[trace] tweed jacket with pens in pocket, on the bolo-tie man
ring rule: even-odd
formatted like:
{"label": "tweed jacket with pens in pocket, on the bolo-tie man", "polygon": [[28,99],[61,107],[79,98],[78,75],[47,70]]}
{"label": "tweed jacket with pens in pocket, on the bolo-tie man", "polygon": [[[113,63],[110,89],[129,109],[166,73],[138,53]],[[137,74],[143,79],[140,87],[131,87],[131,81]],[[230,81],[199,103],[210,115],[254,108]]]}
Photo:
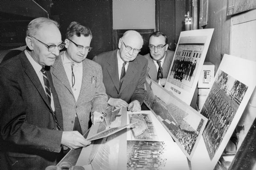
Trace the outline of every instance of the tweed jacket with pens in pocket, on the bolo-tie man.
{"label": "tweed jacket with pens in pocket, on the bolo-tie man", "polygon": [[[63,55],[63,52],[61,52],[61,55]],[[77,101],[68,81],[61,56],[58,56],[55,63],[51,66],[51,74],[61,103],[64,131],[73,130],[77,114],[82,133],[84,134],[89,128],[90,112],[95,110],[105,112],[107,95],[102,82],[101,66],[87,58],[82,61],[82,64],[82,84]]]}

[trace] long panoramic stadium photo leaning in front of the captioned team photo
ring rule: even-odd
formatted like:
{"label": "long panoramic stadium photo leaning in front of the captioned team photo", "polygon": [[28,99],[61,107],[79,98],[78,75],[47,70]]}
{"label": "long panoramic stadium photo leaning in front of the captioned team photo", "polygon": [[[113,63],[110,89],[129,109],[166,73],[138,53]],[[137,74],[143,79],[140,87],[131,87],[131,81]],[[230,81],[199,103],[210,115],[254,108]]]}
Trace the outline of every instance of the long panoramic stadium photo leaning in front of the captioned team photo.
{"label": "long panoramic stadium photo leaning in front of the captioned team photo", "polygon": [[144,103],[191,160],[207,118],[148,77]]}

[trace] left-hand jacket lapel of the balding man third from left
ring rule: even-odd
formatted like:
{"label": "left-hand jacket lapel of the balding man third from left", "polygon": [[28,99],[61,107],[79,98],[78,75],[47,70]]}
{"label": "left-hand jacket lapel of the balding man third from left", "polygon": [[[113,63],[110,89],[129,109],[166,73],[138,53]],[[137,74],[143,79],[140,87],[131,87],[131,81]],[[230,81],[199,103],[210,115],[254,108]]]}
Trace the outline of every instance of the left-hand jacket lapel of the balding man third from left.
{"label": "left-hand jacket lapel of the balding man third from left", "polygon": [[113,84],[116,87],[117,92],[119,92],[119,76],[118,76],[118,64],[117,64],[117,50],[112,53],[112,56],[108,59],[107,63],[109,64],[107,70],[108,74],[113,81]]}

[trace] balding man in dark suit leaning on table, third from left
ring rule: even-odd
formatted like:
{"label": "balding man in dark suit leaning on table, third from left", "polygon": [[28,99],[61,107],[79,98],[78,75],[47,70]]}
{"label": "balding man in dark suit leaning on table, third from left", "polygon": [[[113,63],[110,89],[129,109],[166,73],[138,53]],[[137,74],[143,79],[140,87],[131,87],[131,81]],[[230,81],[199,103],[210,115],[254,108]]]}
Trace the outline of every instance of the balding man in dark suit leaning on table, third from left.
{"label": "balding man in dark suit leaning on table, third from left", "polygon": [[119,39],[118,48],[93,58],[102,66],[108,104],[140,111],[144,98],[147,60],[138,55],[143,45],[141,35],[133,30]]}

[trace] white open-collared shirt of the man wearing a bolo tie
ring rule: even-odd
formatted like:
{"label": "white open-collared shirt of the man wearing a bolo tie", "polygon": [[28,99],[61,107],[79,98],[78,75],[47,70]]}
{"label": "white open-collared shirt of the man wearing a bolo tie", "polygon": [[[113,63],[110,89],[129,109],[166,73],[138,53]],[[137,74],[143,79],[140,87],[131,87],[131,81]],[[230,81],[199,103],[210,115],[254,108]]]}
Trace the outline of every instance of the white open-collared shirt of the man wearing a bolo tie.
{"label": "white open-collared shirt of the man wearing a bolo tie", "polygon": [[[64,52],[61,55],[61,61],[63,63],[68,81],[70,82],[70,87],[72,89],[73,95],[75,97],[75,100],[77,101],[79,94],[80,94],[80,90],[81,90],[81,85],[82,85],[82,78],[83,78],[83,62],[81,63],[74,63],[73,66],[73,73],[75,76],[75,84],[72,87],[72,69],[71,69],[71,63],[72,61],[70,61],[67,56],[66,56],[66,52]],[[74,81],[74,80],[73,80]]]}

